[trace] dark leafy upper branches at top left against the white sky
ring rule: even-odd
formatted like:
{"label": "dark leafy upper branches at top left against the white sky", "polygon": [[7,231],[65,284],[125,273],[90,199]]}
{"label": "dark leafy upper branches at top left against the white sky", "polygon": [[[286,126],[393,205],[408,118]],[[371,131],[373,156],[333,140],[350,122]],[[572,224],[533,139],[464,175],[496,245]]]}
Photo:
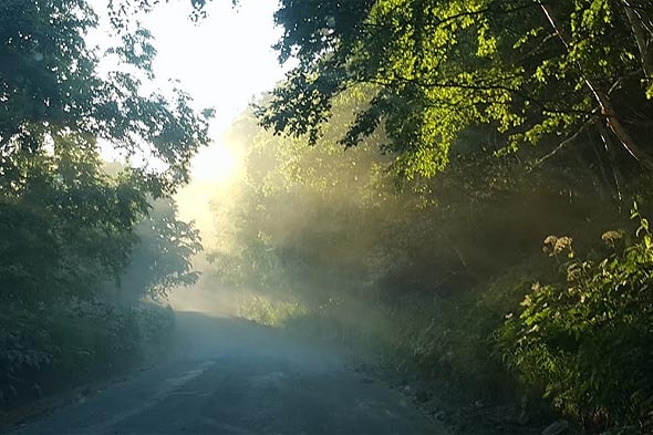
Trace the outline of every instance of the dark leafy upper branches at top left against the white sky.
{"label": "dark leafy upper branches at top left against the white sky", "polygon": [[[113,3],[112,3],[113,4]],[[168,101],[144,96],[154,77],[156,50],[151,33],[136,23],[112,20],[117,43],[108,55],[120,66],[101,74],[100,54],[85,42],[97,17],[85,0],[8,0],[0,7],[0,174],[19,151],[46,151],[66,135],[80,148],[100,143],[158,160],[160,169],[139,169],[155,195],[188,180],[197,148],[209,142],[213,111],[197,113],[179,90]]]}

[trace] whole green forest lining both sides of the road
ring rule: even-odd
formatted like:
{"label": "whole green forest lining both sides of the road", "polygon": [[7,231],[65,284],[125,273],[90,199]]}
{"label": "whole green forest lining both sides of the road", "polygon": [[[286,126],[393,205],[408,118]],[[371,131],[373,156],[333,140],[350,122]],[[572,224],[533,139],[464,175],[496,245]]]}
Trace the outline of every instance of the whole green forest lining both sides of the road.
{"label": "whole green forest lining both sides of the road", "polygon": [[237,315],[517,426],[653,431],[651,1],[281,0],[204,240],[215,113],[146,91],[155,8],[99,53],[85,0],[0,4],[0,407],[164,353],[201,255]]}

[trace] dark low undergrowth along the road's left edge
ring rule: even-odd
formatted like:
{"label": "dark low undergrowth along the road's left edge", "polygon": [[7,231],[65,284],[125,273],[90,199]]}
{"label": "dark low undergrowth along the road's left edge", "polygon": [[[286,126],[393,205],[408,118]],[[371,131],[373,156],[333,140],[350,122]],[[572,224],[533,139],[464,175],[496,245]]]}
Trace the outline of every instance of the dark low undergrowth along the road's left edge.
{"label": "dark low undergrowth along the road's left edge", "polygon": [[0,310],[0,406],[126,367],[165,350],[174,322],[154,304],[93,300]]}

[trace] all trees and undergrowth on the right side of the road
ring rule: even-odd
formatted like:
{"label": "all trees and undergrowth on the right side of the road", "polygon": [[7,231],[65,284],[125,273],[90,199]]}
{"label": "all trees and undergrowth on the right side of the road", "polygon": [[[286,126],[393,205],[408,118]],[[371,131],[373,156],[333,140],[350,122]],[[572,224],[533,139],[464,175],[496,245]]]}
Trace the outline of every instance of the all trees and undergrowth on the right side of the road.
{"label": "all trees and undergrowth on the right side of the road", "polygon": [[245,314],[515,404],[516,425],[653,429],[651,6],[276,19],[297,66],[232,126],[245,176],[210,253],[255,289]]}

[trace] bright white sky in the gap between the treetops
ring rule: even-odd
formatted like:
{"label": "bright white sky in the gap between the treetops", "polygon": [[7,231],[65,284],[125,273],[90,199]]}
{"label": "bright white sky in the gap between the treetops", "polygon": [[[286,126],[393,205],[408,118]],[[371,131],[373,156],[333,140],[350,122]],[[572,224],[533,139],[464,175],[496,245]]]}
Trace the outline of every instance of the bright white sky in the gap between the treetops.
{"label": "bright white sky in the gap between the treetops", "polygon": [[[106,1],[92,3],[102,18]],[[169,87],[169,79],[178,80],[196,108],[216,108],[210,132],[216,145],[194,159],[196,180],[232,175],[234,156],[220,144],[222,133],[252,97],[283,77],[271,49],[280,37],[272,19],[277,7],[276,0],[239,0],[237,7],[231,0],[213,0],[206,6],[208,17],[194,23],[190,0],[173,0],[138,18],[155,38],[158,85]],[[102,38],[93,35],[92,41],[102,44]]]}

